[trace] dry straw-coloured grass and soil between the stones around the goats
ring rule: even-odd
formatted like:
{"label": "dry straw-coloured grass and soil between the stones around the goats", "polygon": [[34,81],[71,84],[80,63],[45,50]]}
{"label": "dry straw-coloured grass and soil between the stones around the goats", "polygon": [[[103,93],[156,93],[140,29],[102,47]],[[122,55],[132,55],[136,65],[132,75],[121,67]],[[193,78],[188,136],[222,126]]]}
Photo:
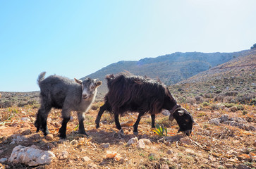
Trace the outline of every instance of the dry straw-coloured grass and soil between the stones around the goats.
{"label": "dry straw-coloured grass and soil between the stones around the goats", "polygon": [[[96,105],[98,105],[97,103]],[[85,138],[85,141],[78,142],[78,144],[71,144],[73,139],[78,140],[83,137],[75,134],[74,129],[78,124],[78,120],[74,114],[73,122],[68,123],[67,139],[62,142],[57,137],[59,127],[55,123],[61,122],[61,115],[59,110],[52,110],[49,114],[51,120],[48,121],[49,131],[54,134],[53,141],[44,139],[42,132],[40,132],[41,139],[39,142],[20,143],[25,146],[36,144],[41,149],[51,150],[56,154],[56,161],[49,165],[43,165],[39,168],[92,168],[92,164],[97,168],[161,168],[163,165],[168,165],[169,168],[226,168],[226,165],[247,165],[250,168],[255,167],[255,161],[240,160],[238,158],[242,154],[249,154],[250,152],[256,154],[255,142],[256,132],[242,130],[238,127],[230,125],[211,125],[208,123],[209,119],[218,118],[223,114],[228,114],[231,117],[240,117],[245,119],[255,119],[255,106],[243,105],[248,111],[243,114],[243,111],[226,112],[223,110],[215,110],[211,106],[205,107],[204,111],[195,111],[199,106],[192,106],[190,104],[183,104],[193,113],[193,117],[198,125],[195,125],[193,134],[190,137],[185,137],[183,134],[177,134],[178,126],[173,124],[167,125],[168,120],[166,116],[157,115],[157,122],[164,124],[167,127],[167,137],[159,137],[150,129],[150,116],[142,118],[139,125],[138,139],[147,138],[152,141],[151,145],[147,145],[145,149],[138,149],[136,145],[126,146],[126,142],[133,135],[133,127],[123,127],[126,136],[122,139],[113,137],[114,131],[117,132],[114,122],[109,113],[105,113],[102,117],[103,123],[101,127],[95,129],[95,118],[97,110],[91,110],[85,115],[85,127],[90,134],[90,137]],[[11,155],[11,149],[15,144],[10,144],[11,140],[6,139],[13,134],[20,134],[26,129],[30,129],[32,134],[35,134],[35,114],[37,108],[27,106],[25,108],[1,108],[1,125],[0,125],[0,158]],[[22,117],[30,118],[30,122],[23,122]],[[121,117],[121,122],[125,123],[137,118],[136,113],[130,113]],[[104,122],[106,121],[106,123]],[[248,124],[255,126],[255,123],[247,121]],[[27,137],[30,138],[32,134]],[[49,149],[49,143],[56,146]],[[109,143],[108,149],[99,148],[102,143]],[[7,150],[8,151],[2,151]],[[60,160],[58,158],[62,151],[68,151],[68,158]],[[125,161],[114,161],[113,159],[105,159],[106,150],[116,151],[125,159]],[[171,150],[172,154],[167,154]],[[236,154],[230,152],[236,151]],[[83,161],[83,157],[87,156],[91,161]],[[168,161],[166,161],[168,159]],[[4,163],[6,168],[26,168],[23,164]]]}

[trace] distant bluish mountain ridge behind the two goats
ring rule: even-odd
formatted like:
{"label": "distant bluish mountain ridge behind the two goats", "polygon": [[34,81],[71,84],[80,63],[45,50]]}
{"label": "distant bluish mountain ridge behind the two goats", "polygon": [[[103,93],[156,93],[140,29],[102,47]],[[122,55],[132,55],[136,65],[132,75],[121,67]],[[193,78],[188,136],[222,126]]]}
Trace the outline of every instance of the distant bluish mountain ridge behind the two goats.
{"label": "distant bluish mountain ridge behind the two goats", "polygon": [[[99,93],[105,94],[107,91],[105,76],[128,71],[134,75],[142,75],[153,79],[160,79],[164,84],[170,85],[186,80],[193,75],[197,75],[205,70],[209,70],[217,65],[231,61],[248,54],[250,50],[232,53],[202,53],[202,52],[176,52],[157,58],[142,58],[140,61],[119,61],[112,63],[86,77],[98,78],[102,80],[102,87]],[[82,77],[83,80],[85,77]]]}

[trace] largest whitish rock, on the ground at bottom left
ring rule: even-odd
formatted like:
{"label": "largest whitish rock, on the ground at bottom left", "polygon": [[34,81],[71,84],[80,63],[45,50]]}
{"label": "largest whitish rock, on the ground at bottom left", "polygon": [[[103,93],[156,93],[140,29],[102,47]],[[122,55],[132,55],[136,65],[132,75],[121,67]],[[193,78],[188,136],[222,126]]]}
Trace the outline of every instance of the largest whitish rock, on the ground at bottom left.
{"label": "largest whitish rock, on the ground at bottom left", "polygon": [[8,161],[11,163],[24,163],[29,166],[49,164],[54,160],[55,155],[51,151],[35,149],[31,146],[16,146]]}

